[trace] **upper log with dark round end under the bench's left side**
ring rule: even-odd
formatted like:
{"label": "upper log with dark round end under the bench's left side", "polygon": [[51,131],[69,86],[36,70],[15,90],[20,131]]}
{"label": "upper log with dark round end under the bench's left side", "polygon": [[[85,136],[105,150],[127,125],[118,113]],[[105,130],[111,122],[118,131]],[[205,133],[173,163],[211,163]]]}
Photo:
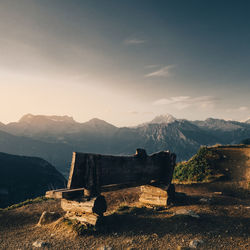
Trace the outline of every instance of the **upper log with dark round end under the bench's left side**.
{"label": "upper log with dark round end under the bench's left side", "polygon": [[92,198],[91,200],[87,200],[86,198],[81,200],[62,199],[61,207],[68,212],[96,213],[100,216],[107,210],[106,200],[102,195]]}

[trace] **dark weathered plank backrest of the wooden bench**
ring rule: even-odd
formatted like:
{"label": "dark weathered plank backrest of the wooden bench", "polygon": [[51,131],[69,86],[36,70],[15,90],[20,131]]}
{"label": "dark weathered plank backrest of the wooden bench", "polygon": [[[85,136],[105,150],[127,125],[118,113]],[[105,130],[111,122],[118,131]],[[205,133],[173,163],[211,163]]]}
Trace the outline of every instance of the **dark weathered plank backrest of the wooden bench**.
{"label": "dark weathered plank backrest of the wooden bench", "polygon": [[[97,196],[101,191],[112,190],[130,183],[129,187],[145,185],[151,180],[169,185],[172,180],[176,155],[161,151],[147,155],[144,149],[137,149],[132,156],[112,156],[88,153],[73,153],[68,188],[84,187],[90,196]],[[132,184],[134,183],[134,185]],[[103,187],[106,186],[106,187]]]}

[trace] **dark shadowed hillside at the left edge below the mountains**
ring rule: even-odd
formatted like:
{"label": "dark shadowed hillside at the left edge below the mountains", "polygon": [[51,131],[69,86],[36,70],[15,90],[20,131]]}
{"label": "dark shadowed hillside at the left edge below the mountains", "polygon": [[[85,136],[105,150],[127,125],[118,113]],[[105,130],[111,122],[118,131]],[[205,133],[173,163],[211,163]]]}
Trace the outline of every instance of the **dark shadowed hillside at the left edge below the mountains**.
{"label": "dark shadowed hillside at the left edge below the mountains", "polygon": [[62,174],[41,158],[0,153],[0,207],[44,195],[65,183]]}

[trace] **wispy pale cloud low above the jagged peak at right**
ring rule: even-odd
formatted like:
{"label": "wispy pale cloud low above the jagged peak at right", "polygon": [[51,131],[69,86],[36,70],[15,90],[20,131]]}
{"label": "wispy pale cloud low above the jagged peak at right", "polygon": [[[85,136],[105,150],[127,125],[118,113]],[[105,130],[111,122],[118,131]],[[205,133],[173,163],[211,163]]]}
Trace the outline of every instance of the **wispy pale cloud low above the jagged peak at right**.
{"label": "wispy pale cloud low above the jagged peak at right", "polygon": [[218,99],[213,96],[175,96],[170,98],[162,98],[155,100],[153,105],[172,105],[177,109],[185,109],[190,106],[198,106],[201,108],[212,107]]}

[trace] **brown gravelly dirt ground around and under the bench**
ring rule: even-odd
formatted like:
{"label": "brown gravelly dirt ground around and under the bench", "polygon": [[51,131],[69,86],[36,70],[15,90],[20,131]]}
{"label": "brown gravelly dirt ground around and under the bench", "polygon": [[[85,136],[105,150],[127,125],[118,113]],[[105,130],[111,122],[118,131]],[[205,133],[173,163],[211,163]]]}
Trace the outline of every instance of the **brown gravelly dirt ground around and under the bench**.
{"label": "brown gravelly dirt ground around and under the bench", "polygon": [[[43,211],[63,215],[56,200],[1,211],[0,249],[36,249],[32,246],[36,240],[44,240],[45,249],[187,249],[194,239],[203,241],[198,249],[250,249],[250,198],[206,192],[205,188],[194,193],[177,186],[177,191],[183,190],[185,194],[177,193],[177,204],[168,209],[141,208],[115,216],[111,214],[120,205],[139,205],[138,188],[106,193],[110,224],[81,236],[60,219],[36,226]],[[182,208],[200,217],[176,215]]]}

